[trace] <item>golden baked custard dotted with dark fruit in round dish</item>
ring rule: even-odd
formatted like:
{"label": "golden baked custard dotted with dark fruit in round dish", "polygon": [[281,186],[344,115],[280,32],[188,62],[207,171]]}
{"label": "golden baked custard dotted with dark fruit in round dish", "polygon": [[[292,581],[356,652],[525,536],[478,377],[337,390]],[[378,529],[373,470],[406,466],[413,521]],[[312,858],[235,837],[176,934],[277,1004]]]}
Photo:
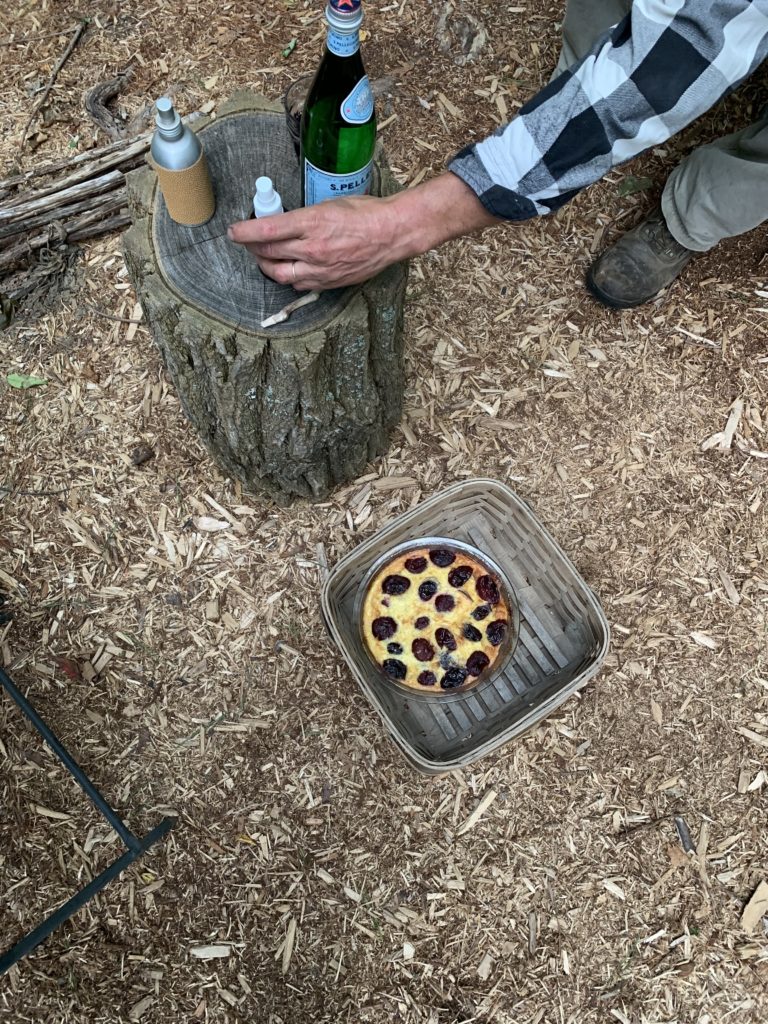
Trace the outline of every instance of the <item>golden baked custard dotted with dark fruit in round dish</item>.
{"label": "golden baked custard dotted with dark fruit in round dish", "polygon": [[470,686],[499,654],[510,608],[498,578],[450,547],[413,548],[371,581],[362,635],[384,672],[418,690]]}

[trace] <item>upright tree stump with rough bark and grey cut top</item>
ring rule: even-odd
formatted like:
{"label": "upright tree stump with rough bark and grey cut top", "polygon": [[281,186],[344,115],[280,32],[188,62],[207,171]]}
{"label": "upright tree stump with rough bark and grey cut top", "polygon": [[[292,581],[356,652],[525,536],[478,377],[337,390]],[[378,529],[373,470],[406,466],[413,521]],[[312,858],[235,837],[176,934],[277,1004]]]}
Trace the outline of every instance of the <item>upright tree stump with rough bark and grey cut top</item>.
{"label": "upright tree stump with rough bark and grey cut top", "polygon": [[[323,498],[386,450],[399,420],[407,266],[324,292],[262,330],[261,321],[297,293],[266,279],[226,228],[252,212],[260,174],[273,179],[287,210],[299,206],[285,113],[239,93],[196,130],[216,213],[201,227],[174,223],[154,171],[133,171],[128,271],[184,413],[214,460],[279,501]],[[395,190],[378,157],[376,178],[379,195]]]}

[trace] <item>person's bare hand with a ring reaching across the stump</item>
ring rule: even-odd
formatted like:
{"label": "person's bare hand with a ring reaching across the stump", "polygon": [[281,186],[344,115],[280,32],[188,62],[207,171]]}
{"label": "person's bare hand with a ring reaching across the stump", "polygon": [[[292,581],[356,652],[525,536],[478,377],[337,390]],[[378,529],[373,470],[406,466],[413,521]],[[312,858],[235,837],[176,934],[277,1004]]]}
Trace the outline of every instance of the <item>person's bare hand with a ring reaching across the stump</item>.
{"label": "person's bare hand with a ring reaching across the stump", "polygon": [[498,223],[459,177],[441,174],[383,199],[351,196],[229,227],[263,272],[299,292],[368,281],[398,260]]}

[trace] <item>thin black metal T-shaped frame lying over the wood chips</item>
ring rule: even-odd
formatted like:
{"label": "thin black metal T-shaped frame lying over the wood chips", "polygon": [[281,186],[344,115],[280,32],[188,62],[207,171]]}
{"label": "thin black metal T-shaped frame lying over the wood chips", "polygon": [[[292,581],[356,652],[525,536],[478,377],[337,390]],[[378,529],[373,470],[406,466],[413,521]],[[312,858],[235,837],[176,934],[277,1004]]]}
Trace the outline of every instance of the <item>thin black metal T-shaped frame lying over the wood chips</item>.
{"label": "thin black metal T-shaped frame lying over the wood chips", "polygon": [[23,956],[26,956],[29,952],[31,952],[31,950],[33,950],[38,943],[42,942],[43,939],[46,939],[51,932],[58,928],[59,925],[63,924],[68,918],[71,918],[74,913],[77,913],[78,910],[82,909],[90,899],[92,899],[104,888],[104,886],[112,882],[113,879],[116,879],[122,871],[125,870],[126,867],[132,864],[134,860],[137,860],[142,853],[153,846],[153,844],[162,839],[163,836],[165,836],[166,833],[168,833],[176,823],[176,819],[169,817],[163,818],[160,824],[153,828],[153,830],[143,839],[139,839],[138,836],[134,836],[130,828],[128,828],[127,825],[121,820],[115,810],[106,803],[104,798],[101,796],[93,782],[91,782],[77,761],[75,761],[72,755],[66,750],[54,733],[51,732],[45,722],[43,722],[30,701],[19,691],[15,683],[13,683],[13,681],[3,672],[2,669],[0,669],[0,686],[7,691],[10,698],[32,722],[37,731],[50,746],[59,761],[65,765],[73,778],[98,808],[104,818],[106,818],[118,836],[120,836],[125,846],[128,847],[127,851],[121,857],[118,857],[116,861],[110,864],[109,867],[104,868],[100,874],[97,874],[96,878],[89,882],[87,886],[75,893],[75,895],[67,900],[66,903],[62,903],[57,910],[54,910],[53,913],[42,922],[42,924],[38,925],[36,929],[20,939],[12,948],[0,955],[0,974],[3,974],[3,972],[7,971],[9,967],[12,967],[13,964],[16,964]]}

